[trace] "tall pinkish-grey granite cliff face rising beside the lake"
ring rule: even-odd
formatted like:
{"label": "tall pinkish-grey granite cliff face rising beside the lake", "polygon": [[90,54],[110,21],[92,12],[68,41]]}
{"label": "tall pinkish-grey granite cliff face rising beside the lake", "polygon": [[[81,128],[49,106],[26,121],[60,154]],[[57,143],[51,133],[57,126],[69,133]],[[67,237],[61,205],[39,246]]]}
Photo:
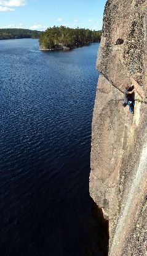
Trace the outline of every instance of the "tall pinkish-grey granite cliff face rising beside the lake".
{"label": "tall pinkish-grey granite cliff face rising beside the lake", "polygon": [[[98,52],[90,195],[109,221],[109,255],[147,255],[147,1],[108,0]],[[135,114],[122,106],[135,86]]]}

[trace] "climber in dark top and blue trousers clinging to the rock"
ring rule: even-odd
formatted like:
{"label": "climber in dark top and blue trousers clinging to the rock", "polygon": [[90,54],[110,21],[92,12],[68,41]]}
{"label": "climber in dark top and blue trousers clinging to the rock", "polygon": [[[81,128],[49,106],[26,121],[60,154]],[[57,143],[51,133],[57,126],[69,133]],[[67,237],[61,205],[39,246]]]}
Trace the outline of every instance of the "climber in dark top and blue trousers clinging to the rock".
{"label": "climber in dark top and blue trousers clinging to the rock", "polygon": [[124,100],[122,105],[125,107],[129,105],[130,113],[134,114],[134,105],[135,105],[135,88],[133,85],[130,87],[127,85],[124,91]]}

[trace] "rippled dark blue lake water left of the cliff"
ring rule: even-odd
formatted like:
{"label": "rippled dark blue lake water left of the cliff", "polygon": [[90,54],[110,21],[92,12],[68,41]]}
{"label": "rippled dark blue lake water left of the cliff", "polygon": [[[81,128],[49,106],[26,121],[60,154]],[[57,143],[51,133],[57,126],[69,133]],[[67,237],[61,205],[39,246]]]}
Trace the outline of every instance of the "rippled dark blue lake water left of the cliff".
{"label": "rippled dark blue lake water left of the cliff", "polygon": [[85,256],[98,46],[0,41],[1,255]]}

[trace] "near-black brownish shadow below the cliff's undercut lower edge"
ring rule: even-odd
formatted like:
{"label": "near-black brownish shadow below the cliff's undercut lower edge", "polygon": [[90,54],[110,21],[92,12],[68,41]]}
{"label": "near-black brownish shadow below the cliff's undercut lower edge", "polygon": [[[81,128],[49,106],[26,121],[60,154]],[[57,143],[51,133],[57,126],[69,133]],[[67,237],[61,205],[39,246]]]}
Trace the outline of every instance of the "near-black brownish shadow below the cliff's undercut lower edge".
{"label": "near-black brownish shadow below the cliff's undercut lower edge", "polygon": [[92,210],[88,223],[87,254],[85,256],[108,256],[109,221],[103,216],[103,211],[92,200]]}

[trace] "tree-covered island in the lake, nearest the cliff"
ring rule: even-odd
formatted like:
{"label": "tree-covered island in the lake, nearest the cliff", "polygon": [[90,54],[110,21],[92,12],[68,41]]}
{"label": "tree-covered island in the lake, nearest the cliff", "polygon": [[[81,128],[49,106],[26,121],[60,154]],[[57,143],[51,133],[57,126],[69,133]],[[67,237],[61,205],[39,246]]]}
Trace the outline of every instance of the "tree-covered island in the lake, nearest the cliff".
{"label": "tree-covered island in the lake, nearest the cliff", "polygon": [[39,36],[41,50],[73,49],[89,43],[99,42],[101,30],[85,28],[50,27]]}

